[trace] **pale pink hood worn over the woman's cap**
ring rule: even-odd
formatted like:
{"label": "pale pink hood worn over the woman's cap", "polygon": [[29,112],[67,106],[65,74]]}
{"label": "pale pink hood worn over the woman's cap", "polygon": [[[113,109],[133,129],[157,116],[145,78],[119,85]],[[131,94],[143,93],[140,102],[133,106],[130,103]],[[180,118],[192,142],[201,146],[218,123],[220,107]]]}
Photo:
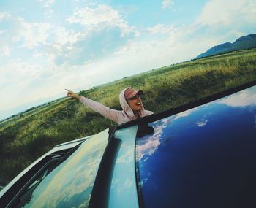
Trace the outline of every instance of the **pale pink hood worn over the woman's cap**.
{"label": "pale pink hood worn over the woman's cap", "polygon": [[[122,90],[121,93],[119,94],[119,102],[120,102],[120,105],[121,105],[121,107],[123,109],[123,112],[127,115],[127,117],[130,120],[134,120],[137,117],[134,115],[131,107],[129,107],[129,104],[127,103],[126,99],[124,98],[125,90],[127,90],[127,88]],[[140,117],[144,117],[144,116],[147,115],[146,112],[145,112],[145,109],[143,107],[142,101],[141,101],[141,110],[139,111],[139,115],[140,115]]]}

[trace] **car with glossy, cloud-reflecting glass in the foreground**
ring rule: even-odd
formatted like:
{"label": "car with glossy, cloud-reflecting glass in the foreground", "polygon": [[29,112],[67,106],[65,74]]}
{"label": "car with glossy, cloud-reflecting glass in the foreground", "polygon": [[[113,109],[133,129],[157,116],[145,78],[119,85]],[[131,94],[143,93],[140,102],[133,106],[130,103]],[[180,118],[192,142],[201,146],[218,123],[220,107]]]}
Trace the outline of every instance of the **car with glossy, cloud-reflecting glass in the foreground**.
{"label": "car with glossy, cloud-reflecting glass in the foreground", "polygon": [[256,82],[53,147],[0,207],[256,207]]}

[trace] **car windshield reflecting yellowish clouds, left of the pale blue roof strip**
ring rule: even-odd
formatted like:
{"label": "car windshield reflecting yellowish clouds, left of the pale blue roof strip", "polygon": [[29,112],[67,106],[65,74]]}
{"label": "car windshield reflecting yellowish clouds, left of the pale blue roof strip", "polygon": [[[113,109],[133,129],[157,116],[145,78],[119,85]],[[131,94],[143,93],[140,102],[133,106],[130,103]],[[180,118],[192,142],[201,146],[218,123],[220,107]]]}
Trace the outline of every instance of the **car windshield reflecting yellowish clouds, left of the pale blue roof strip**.
{"label": "car windshield reflecting yellowish clouds, left of the pale blue roof strip", "polygon": [[14,207],[88,207],[107,143],[108,129],[83,142],[59,166],[49,163]]}

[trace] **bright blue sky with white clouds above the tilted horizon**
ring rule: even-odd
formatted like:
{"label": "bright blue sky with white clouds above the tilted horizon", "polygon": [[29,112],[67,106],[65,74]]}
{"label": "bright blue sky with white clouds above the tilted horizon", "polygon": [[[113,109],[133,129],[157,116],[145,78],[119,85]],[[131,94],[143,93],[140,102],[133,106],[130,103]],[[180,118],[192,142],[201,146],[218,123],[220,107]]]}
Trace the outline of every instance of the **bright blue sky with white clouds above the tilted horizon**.
{"label": "bright blue sky with white clouds above the tilted horizon", "polygon": [[0,120],[256,34],[255,0],[1,0]]}

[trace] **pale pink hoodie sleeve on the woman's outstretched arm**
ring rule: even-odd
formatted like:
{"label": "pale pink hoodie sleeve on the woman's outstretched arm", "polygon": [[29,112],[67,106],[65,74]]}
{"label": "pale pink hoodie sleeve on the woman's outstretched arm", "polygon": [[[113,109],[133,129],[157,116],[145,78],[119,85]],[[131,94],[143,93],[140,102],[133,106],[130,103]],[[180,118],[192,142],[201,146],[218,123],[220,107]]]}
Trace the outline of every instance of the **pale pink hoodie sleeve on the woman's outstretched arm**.
{"label": "pale pink hoodie sleeve on the woman's outstretched arm", "polygon": [[103,115],[104,117],[109,118],[110,120],[113,120],[114,122],[118,123],[118,115],[121,114],[120,111],[116,109],[110,109],[109,107],[105,107],[105,105],[100,104],[97,101],[87,99],[84,96],[82,96],[79,99],[79,101],[93,109],[95,112],[98,112],[100,115]]}

